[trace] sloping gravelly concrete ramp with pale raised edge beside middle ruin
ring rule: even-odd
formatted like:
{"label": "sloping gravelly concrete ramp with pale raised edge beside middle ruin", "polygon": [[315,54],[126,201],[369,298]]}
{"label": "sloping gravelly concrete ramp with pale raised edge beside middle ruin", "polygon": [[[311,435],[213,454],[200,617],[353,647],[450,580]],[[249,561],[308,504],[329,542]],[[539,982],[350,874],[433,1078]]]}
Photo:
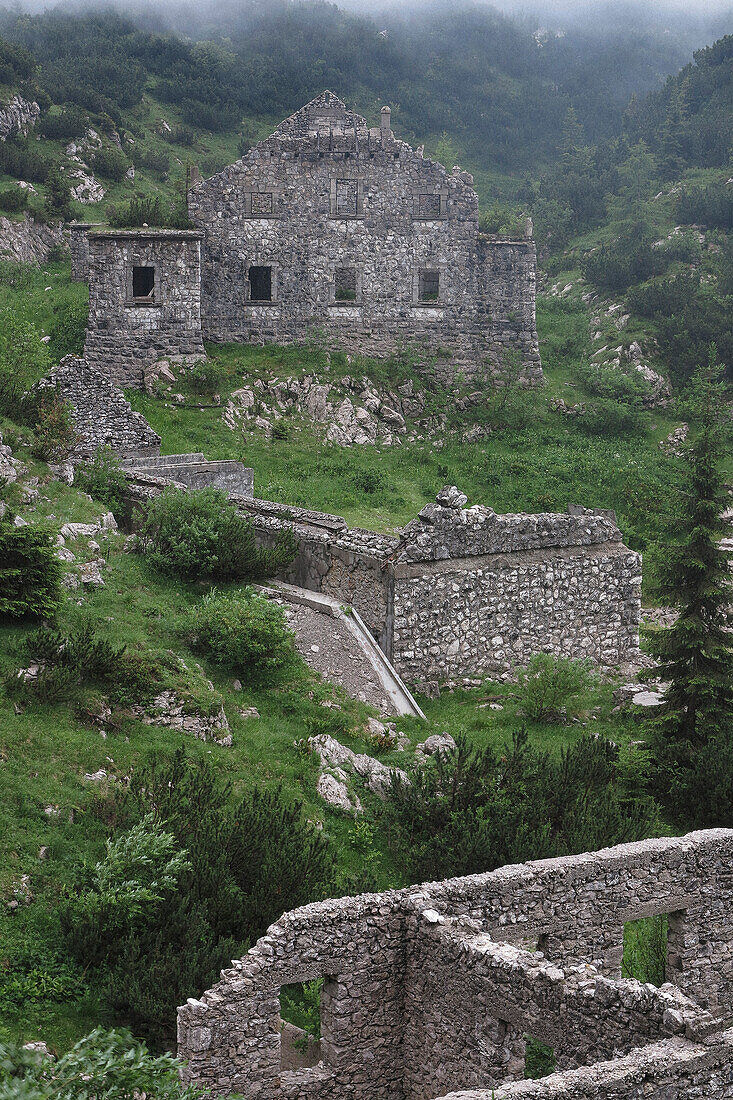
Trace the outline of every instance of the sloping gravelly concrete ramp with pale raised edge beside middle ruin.
{"label": "sloping gravelly concrete ramp with pale raised edge beside middle ruin", "polygon": [[298,651],[326,680],[376,706],[384,716],[425,717],[353,607],[284,582],[259,591],[288,607]]}

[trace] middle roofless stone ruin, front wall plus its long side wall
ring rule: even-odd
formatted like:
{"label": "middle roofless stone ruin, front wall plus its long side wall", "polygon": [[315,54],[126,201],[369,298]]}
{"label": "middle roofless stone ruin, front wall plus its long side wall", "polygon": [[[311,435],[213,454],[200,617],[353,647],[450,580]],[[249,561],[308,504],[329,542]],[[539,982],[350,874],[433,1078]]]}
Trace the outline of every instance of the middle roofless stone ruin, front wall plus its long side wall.
{"label": "middle roofless stone ruin, front wall plus its long side wall", "polygon": [[606,667],[638,658],[642,560],[612,514],[502,516],[463,508],[464,495],[447,486],[442,504],[390,536],[232,499],[262,544],[293,534],[296,556],[280,579],[353,607],[407,683],[512,674],[536,653]]}

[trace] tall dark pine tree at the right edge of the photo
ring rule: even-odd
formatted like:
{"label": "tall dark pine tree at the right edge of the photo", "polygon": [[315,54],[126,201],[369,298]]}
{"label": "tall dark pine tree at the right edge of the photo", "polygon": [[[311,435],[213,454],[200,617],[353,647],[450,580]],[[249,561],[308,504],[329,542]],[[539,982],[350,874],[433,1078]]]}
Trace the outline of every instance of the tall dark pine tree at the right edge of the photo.
{"label": "tall dark pine tree at the right edge of the photo", "polygon": [[[652,732],[659,793],[675,817],[698,825],[721,824],[711,817],[713,803],[719,817],[733,820],[733,637],[729,629],[733,586],[729,557],[721,548],[729,534],[722,466],[730,420],[725,420],[722,371],[714,359],[713,349],[708,367],[696,372],[691,382],[687,406],[697,431],[685,449],[680,508],[660,565],[660,594],[678,608],[679,617],[650,645],[659,661],[658,673],[669,682]],[[711,798],[701,804],[705,790]]]}

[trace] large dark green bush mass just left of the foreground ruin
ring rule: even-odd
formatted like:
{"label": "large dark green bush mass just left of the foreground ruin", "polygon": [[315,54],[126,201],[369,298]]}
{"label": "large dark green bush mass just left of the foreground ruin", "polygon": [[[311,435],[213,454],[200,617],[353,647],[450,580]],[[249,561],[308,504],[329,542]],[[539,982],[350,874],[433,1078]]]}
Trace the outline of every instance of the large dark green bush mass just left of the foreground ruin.
{"label": "large dark green bush mass just left of the foreground ruin", "polygon": [[233,800],[211,763],[183,749],[151,758],[127,790],[98,794],[96,812],[124,831],[154,812],[190,865],[122,935],[96,919],[84,935],[66,926],[79,965],[98,960],[95,980],[119,1019],[155,1043],[175,1035],[176,1005],[215,982],[283,912],[327,897],[332,884],[329,842],[300,803],[280,788]]}

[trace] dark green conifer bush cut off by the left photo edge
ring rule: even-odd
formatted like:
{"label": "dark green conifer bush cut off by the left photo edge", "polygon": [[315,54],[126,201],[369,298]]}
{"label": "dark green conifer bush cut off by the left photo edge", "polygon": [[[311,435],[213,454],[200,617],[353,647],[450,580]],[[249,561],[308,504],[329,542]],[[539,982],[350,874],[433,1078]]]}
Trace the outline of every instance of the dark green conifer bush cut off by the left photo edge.
{"label": "dark green conifer bush cut off by the left photo edge", "polygon": [[0,616],[54,618],[62,600],[56,531],[0,520]]}

